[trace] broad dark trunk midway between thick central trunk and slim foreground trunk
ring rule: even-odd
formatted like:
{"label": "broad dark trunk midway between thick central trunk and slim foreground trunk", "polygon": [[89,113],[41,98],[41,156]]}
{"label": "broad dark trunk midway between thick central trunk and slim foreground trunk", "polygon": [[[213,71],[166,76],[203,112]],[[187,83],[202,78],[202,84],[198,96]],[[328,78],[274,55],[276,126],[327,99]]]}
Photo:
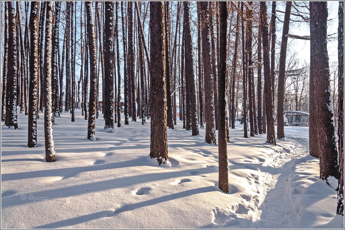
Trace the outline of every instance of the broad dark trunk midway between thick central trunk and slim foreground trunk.
{"label": "broad dark trunk midway between thick central trunk and slim foreground trunk", "polygon": [[[187,91],[187,124],[186,128],[192,130],[192,136],[199,135],[197,122],[195,80],[193,67],[193,47],[190,28],[189,2],[183,2],[184,6],[184,30],[185,30],[185,73],[186,74],[186,91]],[[190,122],[190,123],[189,123]]]}

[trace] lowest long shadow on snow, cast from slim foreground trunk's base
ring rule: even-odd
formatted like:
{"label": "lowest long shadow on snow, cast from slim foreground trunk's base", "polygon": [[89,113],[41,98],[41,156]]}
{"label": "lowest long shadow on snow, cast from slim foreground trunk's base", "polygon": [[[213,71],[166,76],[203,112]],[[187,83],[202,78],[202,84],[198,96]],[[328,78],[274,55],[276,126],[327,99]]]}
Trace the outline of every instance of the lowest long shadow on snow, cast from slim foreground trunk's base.
{"label": "lowest long shadow on snow, cast from slim foreground trunk's base", "polygon": [[163,202],[170,201],[170,200],[188,197],[188,196],[195,195],[198,193],[213,192],[213,191],[217,191],[214,186],[190,189],[190,190],[183,191],[183,192],[177,192],[177,193],[169,194],[166,196],[157,197],[157,198],[154,198],[151,200],[146,200],[146,201],[133,203],[133,204],[127,204],[127,205],[121,207],[120,209],[118,209],[114,212],[110,211],[110,210],[106,210],[106,211],[87,214],[84,216],[70,218],[67,220],[61,220],[61,221],[45,224],[45,225],[34,227],[34,228],[62,228],[62,227],[67,227],[67,226],[71,226],[74,224],[79,224],[79,223],[83,223],[83,222],[87,222],[90,220],[95,220],[95,219],[99,219],[99,218],[103,218],[103,217],[115,216],[116,214],[121,213],[121,212],[131,211],[134,209],[155,205],[155,204],[163,203]]}

